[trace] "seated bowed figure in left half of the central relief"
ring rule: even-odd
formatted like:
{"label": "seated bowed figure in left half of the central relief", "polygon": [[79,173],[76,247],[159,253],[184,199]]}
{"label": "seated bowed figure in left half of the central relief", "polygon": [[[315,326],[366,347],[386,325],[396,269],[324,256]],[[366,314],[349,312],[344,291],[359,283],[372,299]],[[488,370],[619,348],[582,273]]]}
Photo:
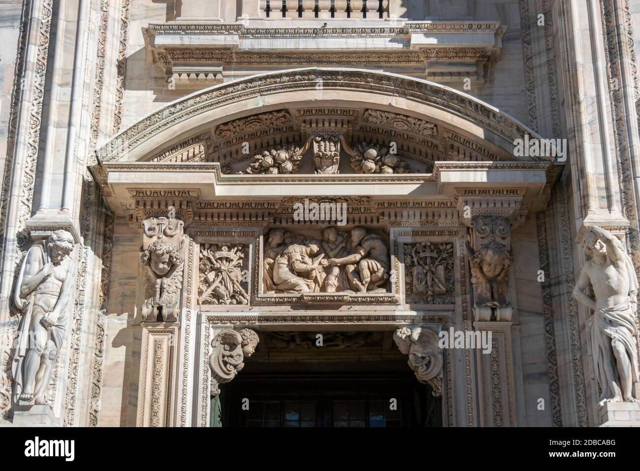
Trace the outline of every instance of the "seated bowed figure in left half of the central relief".
{"label": "seated bowed figure in left half of the central relief", "polygon": [[319,254],[320,244],[309,241],[306,244],[289,245],[275,260],[273,282],[276,290],[290,293],[318,292],[324,281],[322,267],[324,254]]}

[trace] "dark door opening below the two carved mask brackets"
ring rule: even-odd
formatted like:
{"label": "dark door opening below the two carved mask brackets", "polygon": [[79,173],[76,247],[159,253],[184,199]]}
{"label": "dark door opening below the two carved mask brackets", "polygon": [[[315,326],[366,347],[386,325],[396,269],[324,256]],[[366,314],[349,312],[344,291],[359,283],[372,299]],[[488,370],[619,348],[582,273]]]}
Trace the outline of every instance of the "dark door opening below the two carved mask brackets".
{"label": "dark door opening below the two carved mask brackets", "polygon": [[246,374],[221,389],[223,427],[442,426],[442,401],[410,371]]}

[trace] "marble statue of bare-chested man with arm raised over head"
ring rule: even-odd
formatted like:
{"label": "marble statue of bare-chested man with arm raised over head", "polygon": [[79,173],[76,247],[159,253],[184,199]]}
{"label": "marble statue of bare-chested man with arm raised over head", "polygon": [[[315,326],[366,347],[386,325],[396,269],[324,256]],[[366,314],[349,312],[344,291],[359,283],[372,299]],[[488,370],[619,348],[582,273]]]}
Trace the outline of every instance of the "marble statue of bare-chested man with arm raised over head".
{"label": "marble statue of bare-chested man with arm raised over head", "polygon": [[[591,255],[573,288],[573,297],[595,311],[591,319],[591,345],[595,375],[607,401],[640,399],[637,354],[638,281],[631,259],[620,240],[593,226],[584,237],[584,251]],[[584,293],[591,282],[596,301]]]}

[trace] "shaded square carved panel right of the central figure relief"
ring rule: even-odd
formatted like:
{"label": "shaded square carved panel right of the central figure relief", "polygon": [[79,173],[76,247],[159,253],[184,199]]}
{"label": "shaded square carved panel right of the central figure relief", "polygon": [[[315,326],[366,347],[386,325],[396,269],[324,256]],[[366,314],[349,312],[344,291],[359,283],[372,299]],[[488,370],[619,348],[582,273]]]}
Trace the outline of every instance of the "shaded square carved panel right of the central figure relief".
{"label": "shaded square carved panel right of the central figure relief", "polygon": [[453,304],[453,244],[418,242],[404,245],[407,302]]}

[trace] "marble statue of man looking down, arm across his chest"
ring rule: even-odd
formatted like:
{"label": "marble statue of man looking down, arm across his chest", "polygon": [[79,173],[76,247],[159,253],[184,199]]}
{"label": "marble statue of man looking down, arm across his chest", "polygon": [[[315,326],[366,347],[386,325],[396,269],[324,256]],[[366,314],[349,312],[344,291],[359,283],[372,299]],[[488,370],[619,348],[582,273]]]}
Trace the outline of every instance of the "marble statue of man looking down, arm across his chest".
{"label": "marble statue of man looking down, arm across his chest", "polygon": [[15,402],[47,404],[45,392],[60,353],[76,283],[74,238],[65,230],[27,252],[15,288],[22,311],[13,356]]}

